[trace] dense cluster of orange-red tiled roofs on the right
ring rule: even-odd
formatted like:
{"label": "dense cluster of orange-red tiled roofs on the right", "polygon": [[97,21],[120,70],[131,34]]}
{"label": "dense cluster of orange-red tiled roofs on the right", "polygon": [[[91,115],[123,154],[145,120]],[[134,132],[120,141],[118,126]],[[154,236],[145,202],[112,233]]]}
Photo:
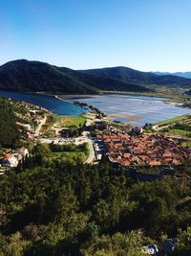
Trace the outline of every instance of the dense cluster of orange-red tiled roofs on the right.
{"label": "dense cluster of orange-red tiled roofs on the right", "polygon": [[162,135],[117,133],[102,135],[102,139],[109,159],[122,166],[179,165],[191,158],[191,151]]}

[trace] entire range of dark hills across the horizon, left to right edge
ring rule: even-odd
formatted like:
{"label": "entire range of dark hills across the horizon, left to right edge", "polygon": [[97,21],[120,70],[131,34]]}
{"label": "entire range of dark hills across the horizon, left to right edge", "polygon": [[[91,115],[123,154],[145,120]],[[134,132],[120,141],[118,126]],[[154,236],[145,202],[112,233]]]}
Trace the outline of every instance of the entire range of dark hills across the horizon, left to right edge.
{"label": "entire range of dark hills across the horizon, left to right edge", "polygon": [[27,59],[0,66],[0,89],[4,90],[97,94],[100,90],[148,92],[153,90],[152,85],[190,88],[191,80],[121,66],[73,70]]}

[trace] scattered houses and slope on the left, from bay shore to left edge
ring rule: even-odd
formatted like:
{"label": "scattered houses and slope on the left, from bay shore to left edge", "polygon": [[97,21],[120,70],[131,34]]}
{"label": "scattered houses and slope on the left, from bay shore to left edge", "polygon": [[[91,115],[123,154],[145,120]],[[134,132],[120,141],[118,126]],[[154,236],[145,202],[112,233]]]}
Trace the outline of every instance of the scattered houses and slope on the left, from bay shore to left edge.
{"label": "scattered houses and slope on the left, from bay shore to left edge", "polygon": [[19,162],[29,157],[28,143],[36,141],[40,129],[46,123],[46,114],[48,113],[46,109],[40,106],[11,101],[11,99],[9,101],[14,107],[14,113],[17,118],[16,125],[22,134],[21,147],[1,149],[0,175],[4,175],[5,172],[17,167]]}

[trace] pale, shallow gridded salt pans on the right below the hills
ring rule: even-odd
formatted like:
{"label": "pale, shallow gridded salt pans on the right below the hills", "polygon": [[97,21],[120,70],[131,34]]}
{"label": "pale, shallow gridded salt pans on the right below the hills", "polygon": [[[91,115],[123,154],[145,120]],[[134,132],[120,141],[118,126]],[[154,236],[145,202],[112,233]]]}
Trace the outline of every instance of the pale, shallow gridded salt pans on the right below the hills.
{"label": "pale, shallow gridded salt pans on the right below the hills", "polygon": [[164,99],[159,97],[110,94],[77,101],[96,106],[100,111],[113,116],[112,120],[130,122],[135,126],[191,113],[191,109],[165,103],[162,100]]}

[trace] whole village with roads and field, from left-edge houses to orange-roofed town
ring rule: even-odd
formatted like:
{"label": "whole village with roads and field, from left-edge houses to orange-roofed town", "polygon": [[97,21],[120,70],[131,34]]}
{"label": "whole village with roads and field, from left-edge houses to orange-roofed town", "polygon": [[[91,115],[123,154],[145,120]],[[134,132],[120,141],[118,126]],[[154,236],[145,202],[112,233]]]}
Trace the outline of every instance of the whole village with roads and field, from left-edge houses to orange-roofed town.
{"label": "whole village with roads and field, from left-edge houses to orange-roofed town", "polygon": [[[23,122],[17,122],[17,126],[24,131],[23,145],[14,150],[4,149],[0,157],[0,175],[17,167],[20,161],[29,157],[29,142],[59,145],[88,143],[89,156],[84,163],[97,164],[104,155],[109,162],[125,168],[174,166],[191,158],[190,149],[181,147],[173,138],[148,132],[141,127],[111,123],[97,109],[92,109],[82,117],[67,118],[55,117],[53,113],[38,106],[25,107]],[[21,120],[21,115],[17,113],[17,116]]]}

